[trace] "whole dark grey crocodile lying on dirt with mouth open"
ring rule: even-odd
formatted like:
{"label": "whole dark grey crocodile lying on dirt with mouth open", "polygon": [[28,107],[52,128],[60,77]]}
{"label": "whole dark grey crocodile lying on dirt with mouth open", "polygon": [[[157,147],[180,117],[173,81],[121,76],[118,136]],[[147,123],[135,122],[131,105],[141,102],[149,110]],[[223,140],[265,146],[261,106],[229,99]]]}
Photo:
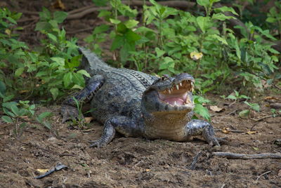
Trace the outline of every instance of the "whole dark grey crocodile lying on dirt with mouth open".
{"label": "whole dark grey crocodile lying on dirt with mouth open", "polygon": [[[90,103],[92,116],[104,124],[103,133],[90,147],[103,147],[115,137],[146,137],[178,142],[202,135],[209,145],[219,138],[207,121],[192,119],[195,79],[187,73],[152,76],[132,69],[114,68],[86,48],[81,67],[91,78],[86,87],[63,101],[63,122],[79,117],[76,101]],[[74,99],[75,98],[75,99]]]}

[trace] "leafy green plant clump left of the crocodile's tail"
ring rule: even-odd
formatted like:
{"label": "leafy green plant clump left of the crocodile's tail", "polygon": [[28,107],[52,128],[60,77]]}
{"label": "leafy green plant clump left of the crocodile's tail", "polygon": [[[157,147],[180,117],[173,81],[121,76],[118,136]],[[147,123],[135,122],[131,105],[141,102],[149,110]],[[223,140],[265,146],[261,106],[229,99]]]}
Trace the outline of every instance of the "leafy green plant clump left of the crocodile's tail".
{"label": "leafy green plant clump left of the crocodile's tail", "polygon": [[6,9],[1,11],[0,23],[4,29],[0,27],[0,67],[4,71],[0,71],[0,79],[3,80],[1,87],[5,86],[6,93],[10,94],[6,95],[5,101],[17,95],[27,99],[39,97],[48,102],[64,95],[67,89],[84,88],[84,76],[89,74],[76,68],[81,58],[77,39],[67,40],[65,30],[59,26],[67,13],[58,11],[52,14],[43,8],[35,30],[45,38],[41,40],[41,48],[31,51],[13,34],[15,20],[20,18],[20,14]]}

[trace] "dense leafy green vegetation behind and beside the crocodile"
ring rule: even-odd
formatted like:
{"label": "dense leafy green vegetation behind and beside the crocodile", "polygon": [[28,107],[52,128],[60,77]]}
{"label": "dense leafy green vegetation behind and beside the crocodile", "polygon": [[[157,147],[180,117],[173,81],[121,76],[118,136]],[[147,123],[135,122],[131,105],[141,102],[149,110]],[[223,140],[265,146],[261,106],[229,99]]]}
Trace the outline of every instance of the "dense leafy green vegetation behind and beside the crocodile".
{"label": "dense leafy green vegetation behind and beside the crocodile", "polygon": [[[280,53],[272,47],[281,36],[280,2],[276,1],[265,15],[266,22],[254,25],[241,5],[231,8],[218,1],[197,0],[195,11],[188,12],[153,0],[149,1],[151,6],[143,1],[140,10],[120,0],[93,0],[100,6],[98,17],[106,22],[93,28],[84,41],[100,56],[103,43],[110,41],[116,59],[112,65],[116,67],[159,76],[192,74],[197,88],[195,112],[209,119],[202,107],[208,102],[202,95],[208,91],[219,93],[228,88],[251,95],[262,92],[265,86],[281,85]],[[103,10],[108,5],[110,11]],[[67,90],[83,88],[84,76],[89,76],[77,69],[81,58],[77,39],[65,36],[63,21],[67,13],[51,13],[43,8],[35,31],[44,34],[44,38],[37,48],[18,40],[17,30],[22,28],[17,26],[17,20],[21,15],[8,8],[0,9],[0,104],[7,115],[2,119],[9,123],[18,121],[19,116],[34,114],[30,100],[56,101]],[[228,23],[237,18],[244,23],[231,29]],[[247,98],[235,93],[228,98]],[[42,122],[45,116],[48,114],[41,114],[37,120]]]}

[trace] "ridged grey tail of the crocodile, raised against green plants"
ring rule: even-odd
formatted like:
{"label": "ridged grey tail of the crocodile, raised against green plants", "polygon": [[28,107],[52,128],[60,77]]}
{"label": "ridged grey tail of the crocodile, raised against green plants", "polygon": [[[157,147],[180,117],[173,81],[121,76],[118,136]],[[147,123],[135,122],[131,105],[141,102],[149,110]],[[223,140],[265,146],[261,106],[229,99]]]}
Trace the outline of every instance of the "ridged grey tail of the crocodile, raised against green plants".
{"label": "ridged grey tail of the crocodile, raised against green plants", "polygon": [[87,72],[91,72],[91,70],[105,69],[110,67],[103,62],[103,60],[100,60],[100,58],[98,58],[98,56],[89,49],[79,47],[79,51],[83,55],[79,68],[85,69]]}

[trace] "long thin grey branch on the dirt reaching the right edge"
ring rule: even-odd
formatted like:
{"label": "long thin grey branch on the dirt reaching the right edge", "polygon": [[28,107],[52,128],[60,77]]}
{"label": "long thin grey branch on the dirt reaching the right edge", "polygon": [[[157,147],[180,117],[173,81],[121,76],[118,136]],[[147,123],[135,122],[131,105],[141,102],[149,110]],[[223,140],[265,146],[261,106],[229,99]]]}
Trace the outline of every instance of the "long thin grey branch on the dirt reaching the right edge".
{"label": "long thin grey branch on the dirt reaching the right edge", "polygon": [[281,159],[281,154],[235,154],[230,152],[213,152],[215,156],[226,157],[227,159]]}

